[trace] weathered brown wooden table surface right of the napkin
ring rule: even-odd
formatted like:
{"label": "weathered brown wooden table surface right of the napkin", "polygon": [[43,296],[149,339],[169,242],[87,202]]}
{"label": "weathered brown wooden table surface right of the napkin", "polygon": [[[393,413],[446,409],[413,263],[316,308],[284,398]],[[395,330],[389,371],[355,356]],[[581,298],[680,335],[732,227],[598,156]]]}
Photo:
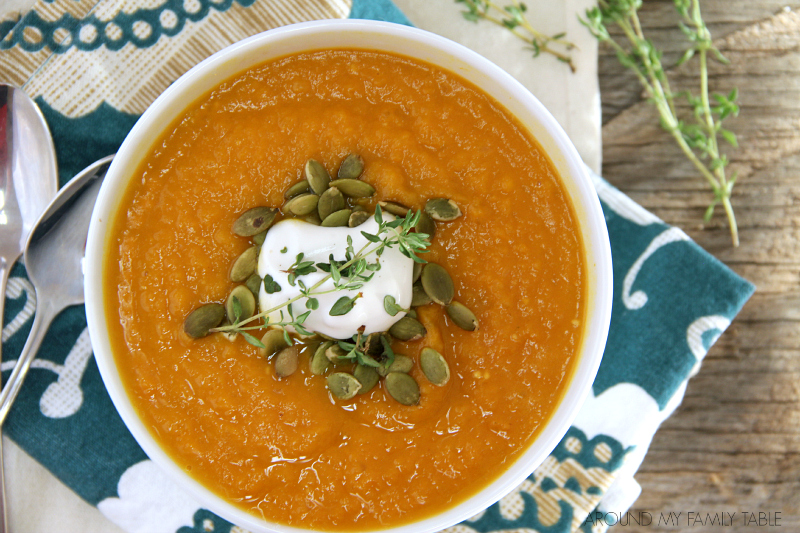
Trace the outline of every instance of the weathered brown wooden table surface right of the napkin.
{"label": "weathered brown wooden table surface right of the napkin", "polygon": [[[739,88],[741,112],[726,125],[739,180],[733,204],[741,245],[731,246],[712,195],[610,49],[600,51],[603,175],[757,286],[710,350],[683,405],[656,434],[637,479],[632,512],[656,520],[624,531],[754,531],[743,512],[780,513],[800,531],[800,0],[703,0],[704,18],[730,65],[714,65],[711,89]],[[679,85],[698,86],[696,60],[674,68],[685,46],[672,0],[645,0],[645,34],[665,50]],[[732,526],[659,526],[660,513],[738,513]]]}

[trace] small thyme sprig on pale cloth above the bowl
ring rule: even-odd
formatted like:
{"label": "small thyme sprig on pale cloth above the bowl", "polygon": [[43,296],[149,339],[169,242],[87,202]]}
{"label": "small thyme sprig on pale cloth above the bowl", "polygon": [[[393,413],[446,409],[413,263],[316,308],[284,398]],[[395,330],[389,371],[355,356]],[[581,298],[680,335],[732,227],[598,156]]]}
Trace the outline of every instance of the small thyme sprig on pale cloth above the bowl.
{"label": "small thyme sprig on pale cloth above the bowl", "polygon": [[[501,6],[492,0],[455,1],[459,4],[464,4],[466,11],[462,11],[461,14],[470,22],[487,20],[506,28],[515,37],[528,44],[533,52],[533,57],[538,57],[542,53],[550,54],[569,65],[570,70],[575,72],[575,64],[568,54],[570,50],[575,48],[575,45],[564,39],[565,33],[547,35],[534,28],[525,16],[528,6],[522,2],[513,0],[510,4]],[[563,49],[563,51],[553,48],[554,46]]]}

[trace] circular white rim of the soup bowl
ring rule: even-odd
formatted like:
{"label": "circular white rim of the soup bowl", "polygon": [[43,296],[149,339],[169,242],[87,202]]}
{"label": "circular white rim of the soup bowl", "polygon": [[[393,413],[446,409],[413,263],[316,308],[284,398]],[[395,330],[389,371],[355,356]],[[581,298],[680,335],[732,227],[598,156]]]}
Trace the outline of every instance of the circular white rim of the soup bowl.
{"label": "circular white rim of the soup bowl", "polygon": [[[559,161],[561,163],[560,166],[566,168],[568,172],[566,175],[563,171],[560,172],[562,185],[567,186],[566,182],[570,182],[574,186],[574,191],[570,192],[569,196],[574,210],[579,211],[579,207],[581,208],[577,213],[577,218],[584,241],[583,248],[586,256],[586,269],[588,270],[587,291],[589,292],[585,294],[584,298],[590,302],[590,305],[587,305],[585,310],[587,324],[584,327],[578,364],[561,394],[557,407],[544,423],[544,428],[538,432],[537,436],[527,445],[517,459],[507,465],[504,472],[478,492],[460,500],[441,513],[415,522],[379,530],[383,533],[400,533],[401,531],[433,533],[466,520],[500,500],[524,481],[557,446],[591,391],[592,382],[602,358],[611,318],[613,285],[610,244],[602,208],[586,168],[564,130],[539,100],[510,74],[483,56],[449,39],[418,28],[389,22],[340,19],[303,22],[268,30],[232,44],[198,63],[167,88],[139,118],[126,136],[103,181],[92,213],[85,256],[84,291],[89,335],[100,374],[108,389],[109,396],[125,425],[147,456],[162,470],[166,471],[178,486],[187,490],[198,500],[198,503],[209,510],[219,514],[226,520],[250,528],[253,531],[277,533],[309,531],[300,527],[261,520],[255,515],[234,506],[204,487],[199,481],[190,477],[158,444],[141,418],[139,418],[117,372],[117,361],[111,349],[109,335],[106,330],[109,313],[106,309],[102,286],[106,264],[105,250],[109,245],[107,228],[113,221],[113,215],[117,211],[117,200],[122,194],[119,189],[121,188],[123,191],[127,189],[133,174],[133,171],[128,170],[130,162],[140,161],[141,158],[137,157],[137,154],[141,155],[142,145],[149,145],[152,148],[153,141],[163,134],[164,127],[158,126],[159,115],[162,113],[169,114],[167,110],[170,107],[178,106],[180,111],[175,112],[175,116],[178,116],[187,106],[185,99],[187,92],[191,91],[196,84],[202,84],[204,77],[212,76],[210,73],[213,73],[218,67],[229,64],[237,58],[242,58],[248,52],[263,50],[277,42],[302,39],[316,33],[348,31],[366,33],[373,37],[388,35],[391,38],[414,41],[416,45],[424,48],[438,49],[452,55],[457,62],[468,65],[469,68],[475,69],[476,72],[482,73],[504,86],[514,98],[522,101],[524,107],[530,111],[536,121],[551,137],[554,147],[559,153],[553,154],[548,151],[548,156],[557,167],[559,164],[557,164],[555,156],[558,155],[563,158],[563,161]],[[345,47],[333,46],[332,48]],[[314,49],[319,48],[306,48],[305,50]],[[380,48],[373,49],[380,50]],[[296,53],[301,51],[303,50],[298,50]],[[239,71],[241,72],[267,60],[276,59],[282,55],[268,55],[268,57],[258,61],[246,61],[246,64]],[[428,61],[427,59],[421,60]],[[452,69],[448,70],[452,71]],[[454,73],[464,77],[463,73]],[[217,84],[224,81],[224,79],[227,78],[218,78]],[[206,92],[207,90],[201,91],[201,93]],[[492,96],[494,97],[494,95]],[[506,102],[500,101],[496,97],[495,99],[500,105],[507,107]],[[194,101],[194,99],[189,100],[189,102],[191,101]],[[167,121],[167,124],[170,123],[172,123],[172,119]],[[526,129],[528,128],[526,127]],[[539,135],[530,134],[536,138],[539,144],[542,144],[542,139]],[[137,166],[138,164],[135,164],[134,169]],[[573,197],[575,193],[578,194],[578,198]],[[577,200],[580,200],[580,206],[576,205]],[[596,278],[593,278],[593,273],[596,274]],[[594,305],[591,305],[592,302]]]}

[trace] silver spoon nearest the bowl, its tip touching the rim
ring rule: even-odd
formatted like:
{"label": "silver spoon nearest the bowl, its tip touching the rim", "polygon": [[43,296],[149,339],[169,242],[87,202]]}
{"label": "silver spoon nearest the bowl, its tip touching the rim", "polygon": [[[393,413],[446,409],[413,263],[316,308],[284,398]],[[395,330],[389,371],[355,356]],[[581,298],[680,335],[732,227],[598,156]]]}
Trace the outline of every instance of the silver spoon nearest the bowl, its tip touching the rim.
{"label": "silver spoon nearest the bowl, its tip touching the rim", "polygon": [[47,207],[28,239],[25,268],[36,289],[36,314],[17,364],[0,392],[0,425],[50,323],[65,308],[83,303],[82,262],[89,219],[112,158],[96,161],[72,178]]}

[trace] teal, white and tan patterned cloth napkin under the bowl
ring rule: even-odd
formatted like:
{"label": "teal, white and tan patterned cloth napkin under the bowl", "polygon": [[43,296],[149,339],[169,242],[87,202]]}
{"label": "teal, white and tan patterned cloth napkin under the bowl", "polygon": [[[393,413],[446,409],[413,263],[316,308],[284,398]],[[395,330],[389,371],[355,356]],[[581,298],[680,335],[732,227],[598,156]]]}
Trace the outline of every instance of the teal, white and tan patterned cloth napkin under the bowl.
{"label": "teal, white and tan patterned cloth napkin under the bowl", "polygon": [[[20,20],[0,20],[0,78],[41,106],[63,185],[115,152],[150,102],[204,57],[272,27],[346,16],[408,24],[388,0],[40,1]],[[611,238],[614,302],[592,394],[533,475],[450,533],[605,530],[638,495],[633,474],[653,434],[754,290],[681,230],[594,180]],[[18,264],[6,293],[4,378],[35,304]],[[4,429],[126,531],[242,531],[201,508],[133,440],[100,379],[82,306],[50,327]]]}

